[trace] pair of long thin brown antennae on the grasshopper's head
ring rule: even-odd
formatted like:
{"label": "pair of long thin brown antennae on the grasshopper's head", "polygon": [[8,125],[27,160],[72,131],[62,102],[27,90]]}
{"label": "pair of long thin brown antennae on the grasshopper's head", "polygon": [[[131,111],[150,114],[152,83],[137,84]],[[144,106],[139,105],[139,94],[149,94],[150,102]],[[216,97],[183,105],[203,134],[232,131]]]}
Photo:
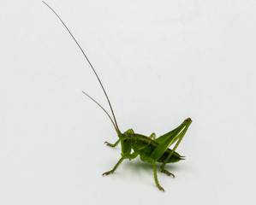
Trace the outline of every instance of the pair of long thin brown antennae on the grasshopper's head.
{"label": "pair of long thin brown antennae on the grasshopper's head", "polygon": [[[45,3],[45,2],[43,1],[43,3]],[[55,10],[52,9],[51,6],[49,6],[47,3],[45,3],[45,5],[46,5],[47,7],[49,7],[49,9],[51,9],[52,12],[53,12],[55,15],[57,15],[57,13],[55,12]],[[63,22],[63,20],[61,19],[61,17],[60,17],[59,15],[57,15],[57,17],[58,17],[59,20],[61,20],[61,22],[63,23],[63,26],[65,26],[65,28],[68,30],[70,36],[74,39],[75,44],[77,44],[77,46],[80,48],[80,51],[81,51],[82,54],[85,56],[86,61],[88,61],[90,67],[92,67],[92,63],[89,61],[89,59],[88,59],[88,57],[86,56],[84,50],[82,50],[82,48],[80,47],[80,44],[78,44],[78,42],[77,42],[76,39],[74,38],[73,34],[69,31],[68,26],[66,26],[66,24]],[[102,85],[100,79],[98,78],[98,74],[96,73],[94,67],[92,67],[92,71],[93,71],[94,74],[96,75],[96,77],[97,77],[97,79],[98,79],[98,82],[99,82],[99,84],[100,84],[102,90],[104,91],[104,95],[105,95],[105,97],[107,98],[107,100],[108,100],[108,102],[109,102],[110,109],[111,109],[111,113],[112,113],[112,115],[113,115],[113,118],[114,118],[115,123],[113,123],[113,120],[112,120],[111,118],[110,118],[110,119],[111,119],[112,123],[116,125],[116,126],[115,126],[116,132],[120,132],[120,131],[119,131],[119,128],[118,128],[118,126],[117,126],[116,116],[115,116],[115,114],[114,114],[113,108],[112,108],[111,103],[110,103],[110,99],[109,99],[109,97],[108,97],[106,91],[104,90],[104,86]],[[88,95],[86,95],[86,96],[89,97]],[[91,98],[91,97],[90,97],[90,98]],[[91,99],[92,99],[92,98],[91,98]],[[92,99],[92,100],[93,100],[93,99]],[[94,100],[93,100],[93,101],[94,101]],[[94,102],[96,102],[96,101],[94,101]],[[96,103],[98,104],[98,102],[96,102]],[[99,104],[98,104],[98,105],[99,105]],[[100,106],[100,105],[99,105],[99,106]],[[100,106],[100,108],[102,108],[102,107]],[[105,110],[104,110],[104,111],[105,111]],[[105,112],[105,113],[106,113],[106,112]],[[109,115],[109,114],[108,114],[108,115]],[[109,117],[110,117],[110,115],[109,115]]]}

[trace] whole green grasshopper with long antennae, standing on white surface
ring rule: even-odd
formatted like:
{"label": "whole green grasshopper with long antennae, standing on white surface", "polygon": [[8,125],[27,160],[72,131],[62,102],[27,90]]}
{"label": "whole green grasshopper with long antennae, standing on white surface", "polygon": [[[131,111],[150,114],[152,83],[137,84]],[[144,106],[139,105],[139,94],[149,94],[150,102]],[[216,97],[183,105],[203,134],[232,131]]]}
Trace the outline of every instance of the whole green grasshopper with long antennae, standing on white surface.
{"label": "whole green grasshopper with long antennae, standing on white surface", "polygon": [[[51,9],[51,7],[47,3],[45,4]],[[53,9],[51,10],[54,12],[55,15],[57,15],[57,13]],[[162,165],[160,166],[160,171],[162,173],[166,173],[168,176],[175,177],[173,173],[170,173],[169,171],[164,169],[164,166],[166,165],[166,163],[175,163],[184,159],[183,158],[184,156],[176,153],[176,148],[181,143],[185,133],[188,131],[188,127],[192,123],[192,120],[190,118],[188,118],[187,120],[184,120],[182,122],[182,125],[160,136],[159,138],[156,138],[155,133],[152,133],[152,135],[150,135],[149,137],[146,137],[145,135],[135,133],[133,129],[128,129],[128,131],[122,133],[117,126],[116,116],[111,106],[110,99],[106,91],[104,90],[104,86],[102,85],[100,79],[98,78],[98,74],[96,73],[94,67],[92,67],[92,63],[89,61],[85,52],[81,49],[80,44],[78,44],[78,42],[74,38],[73,34],[69,31],[68,27],[65,25],[63,20],[59,17],[59,15],[57,15],[57,17],[59,20],[61,20],[61,22],[63,23],[63,26],[66,27],[69,34],[74,39],[74,42],[80,48],[80,51],[82,52],[83,56],[85,56],[86,61],[89,63],[93,73],[96,75],[98,79],[98,83],[101,86],[102,90],[104,91],[104,96],[106,97],[109,103],[113,119],[111,118],[110,114],[97,101],[95,101],[92,97],[90,97],[88,94],[86,94],[86,92],[83,91],[83,93],[87,97],[89,97],[93,102],[98,104],[98,106],[103,109],[104,113],[108,115],[113,126],[115,127],[115,130],[119,139],[116,141],[115,144],[110,144],[108,142],[105,142],[105,144],[107,144],[110,147],[116,147],[117,144],[121,143],[121,147],[122,147],[121,159],[117,161],[115,167],[113,167],[109,172],[103,173],[103,175],[105,176],[105,175],[109,175],[110,173],[114,173],[116,171],[116,168],[121,164],[123,160],[125,159],[133,160],[138,155],[140,155],[141,161],[146,161],[152,164],[155,184],[157,185],[159,190],[164,191],[163,187],[160,186],[158,182],[156,162],[162,163]],[[169,149],[170,145],[172,144],[175,144],[174,148]]]}

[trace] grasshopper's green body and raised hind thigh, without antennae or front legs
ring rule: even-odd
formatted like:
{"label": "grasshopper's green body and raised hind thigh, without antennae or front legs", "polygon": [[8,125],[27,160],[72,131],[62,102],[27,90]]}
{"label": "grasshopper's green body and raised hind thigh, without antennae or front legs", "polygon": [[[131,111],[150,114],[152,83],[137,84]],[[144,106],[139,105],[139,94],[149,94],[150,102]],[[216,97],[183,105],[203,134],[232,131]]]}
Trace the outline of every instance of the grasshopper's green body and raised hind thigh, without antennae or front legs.
{"label": "grasshopper's green body and raised hind thigh, without antennae or front legs", "polygon": [[[133,155],[140,155],[142,161],[158,161],[164,163],[180,161],[182,160],[182,156],[176,153],[175,150],[191,123],[192,120],[188,118],[182,122],[181,126],[154,140],[150,137],[134,133],[132,129],[124,133],[119,133],[118,137],[122,145],[122,156],[131,155],[131,150],[133,149]],[[154,133],[152,136],[154,136]],[[174,149],[169,149],[170,145],[174,143],[176,143]]]}

